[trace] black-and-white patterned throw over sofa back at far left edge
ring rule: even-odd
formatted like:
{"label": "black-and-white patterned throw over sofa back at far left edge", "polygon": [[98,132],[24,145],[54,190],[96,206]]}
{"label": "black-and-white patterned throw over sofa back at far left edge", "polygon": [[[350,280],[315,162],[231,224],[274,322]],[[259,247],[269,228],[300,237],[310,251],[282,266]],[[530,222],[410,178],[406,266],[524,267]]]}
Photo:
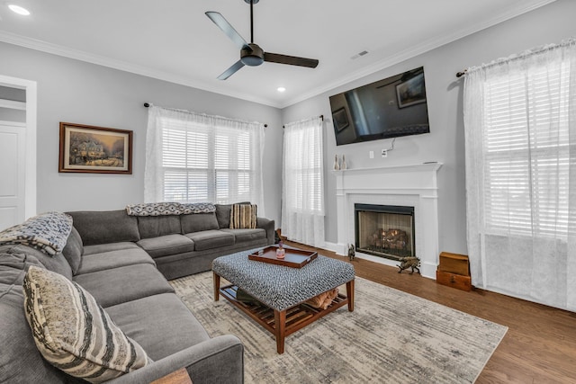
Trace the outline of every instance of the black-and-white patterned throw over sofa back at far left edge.
{"label": "black-and-white patterned throw over sofa back at far left edge", "polygon": [[48,255],[62,252],[72,229],[72,217],[46,212],[0,232],[0,244],[32,246]]}

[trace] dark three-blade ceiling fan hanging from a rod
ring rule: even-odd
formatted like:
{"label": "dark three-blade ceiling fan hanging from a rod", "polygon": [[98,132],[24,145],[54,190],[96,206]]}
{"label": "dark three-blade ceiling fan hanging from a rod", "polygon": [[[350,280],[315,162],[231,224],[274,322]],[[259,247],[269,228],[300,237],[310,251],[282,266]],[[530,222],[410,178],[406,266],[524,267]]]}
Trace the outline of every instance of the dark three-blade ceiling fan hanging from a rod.
{"label": "dark three-blade ceiling fan hanging from a rod", "polygon": [[230,38],[240,49],[240,59],[226,69],[218,78],[220,80],[226,80],[229,76],[232,76],[244,66],[257,67],[265,61],[270,63],[288,64],[290,66],[300,66],[300,67],[318,67],[319,61],[314,58],[297,58],[294,56],[280,55],[278,53],[265,52],[254,42],[254,16],[253,7],[260,0],[244,0],[246,3],[250,4],[250,42],[247,43],[242,36],[239,35],[238,31],[230,25],[230,23],[218,12],[207,12],[206,16],[214,22],[220,30],[222,30],[226,36]]}

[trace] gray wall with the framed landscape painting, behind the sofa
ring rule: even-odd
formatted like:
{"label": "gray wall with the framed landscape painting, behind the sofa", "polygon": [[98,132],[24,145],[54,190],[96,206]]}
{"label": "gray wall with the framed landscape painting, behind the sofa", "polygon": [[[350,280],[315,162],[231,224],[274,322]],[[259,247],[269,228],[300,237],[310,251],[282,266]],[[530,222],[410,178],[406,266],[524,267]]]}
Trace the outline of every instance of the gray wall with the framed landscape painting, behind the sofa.
{"label": "gray wall with the framed landscape painting, behind the sofa", "polygon": [[[117,210],[144,199],[144,102],[268,124],[266,217],[280,223],[281,111],[184,85],[0,43],[0,74],[38,83],[38,211]],[[59,122],[134,131],[131,175],[58,174]]]}

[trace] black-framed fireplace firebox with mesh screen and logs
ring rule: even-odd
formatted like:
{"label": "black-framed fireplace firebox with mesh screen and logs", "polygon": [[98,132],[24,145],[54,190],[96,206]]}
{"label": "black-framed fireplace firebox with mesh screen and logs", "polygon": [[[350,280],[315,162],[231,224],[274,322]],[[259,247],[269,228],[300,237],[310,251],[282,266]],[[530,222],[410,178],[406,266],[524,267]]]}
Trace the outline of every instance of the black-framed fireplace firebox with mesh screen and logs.
{"label": "black-framed fireplace firebox with mesh screen and logs", "polygon": [[356,250],[400,260],[414,256],[414,207],[354,204]]}

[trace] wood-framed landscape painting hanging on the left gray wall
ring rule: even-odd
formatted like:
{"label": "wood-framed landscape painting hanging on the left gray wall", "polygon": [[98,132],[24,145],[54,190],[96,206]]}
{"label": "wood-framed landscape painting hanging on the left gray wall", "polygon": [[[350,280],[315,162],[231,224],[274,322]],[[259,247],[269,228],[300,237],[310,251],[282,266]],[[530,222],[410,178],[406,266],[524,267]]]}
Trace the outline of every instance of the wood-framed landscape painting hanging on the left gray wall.
{"label": "wood-framed landscape painting hanging on the left gray wall", "polygon": [[132,133],[60,122],[58,172],[132,174]]}

